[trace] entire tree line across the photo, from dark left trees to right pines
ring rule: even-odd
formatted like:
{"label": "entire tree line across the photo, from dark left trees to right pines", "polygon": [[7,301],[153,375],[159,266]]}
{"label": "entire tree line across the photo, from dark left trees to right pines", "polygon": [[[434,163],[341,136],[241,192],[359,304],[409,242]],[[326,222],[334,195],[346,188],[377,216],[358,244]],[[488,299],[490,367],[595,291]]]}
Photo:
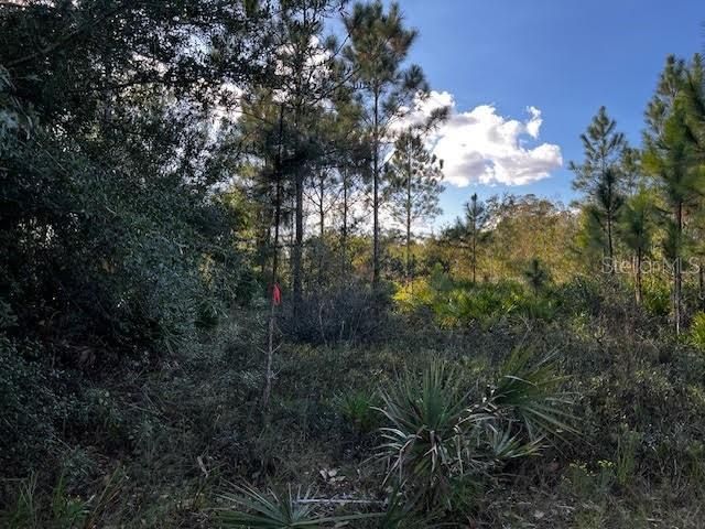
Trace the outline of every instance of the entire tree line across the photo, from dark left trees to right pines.
{"label": "entire tree line across the photo, from dark left trees to right pines", "polygon": [[598,111],[571,164],[577,216],[474,194],[421,242],[448,109],[414,115],[430,87],[397,3],[30,1],[0,26],[2,321],[61,357],[173,349],[262,293],[273,352],[279,314],[359,327],[330,300],[367,307],[434,267],[562,280],[623,256],[638,303],[644,260],[672,263],[680,333],[703,255],[699,55],[669,57],[640,147]]}

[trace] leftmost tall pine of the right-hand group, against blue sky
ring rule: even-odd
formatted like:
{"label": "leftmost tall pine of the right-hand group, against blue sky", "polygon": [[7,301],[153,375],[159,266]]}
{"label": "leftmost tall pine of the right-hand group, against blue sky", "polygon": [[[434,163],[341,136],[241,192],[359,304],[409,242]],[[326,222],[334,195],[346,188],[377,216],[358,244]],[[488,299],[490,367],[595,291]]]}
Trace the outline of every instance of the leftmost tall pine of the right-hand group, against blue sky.
{"label": "leftmost tall pine of the right-hand group, against blue sky", "polygon": [[623,204],[623,174],[618,169],[627,141],[617,132],[617,122],[600,107],[587,131],[581,134],[585,159],[582,164],[571,162],[576,177],[573,186],[586,195],[586,201],[600,213],[605,230],[605,253],[609,269],[615,267],[615,222]]}

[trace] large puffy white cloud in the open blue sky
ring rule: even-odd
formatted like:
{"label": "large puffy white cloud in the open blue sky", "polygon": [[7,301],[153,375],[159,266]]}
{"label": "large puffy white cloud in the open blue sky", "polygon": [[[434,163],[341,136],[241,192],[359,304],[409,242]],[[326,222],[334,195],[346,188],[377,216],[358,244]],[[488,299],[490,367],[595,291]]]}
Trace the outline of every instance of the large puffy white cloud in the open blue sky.
{"label": "large puffy white cloud in the open blue sky", "polygon": [[527,107],[528,118],[517,120],[497,114],[494,105],[480,105],[465,112],[456,108],[447,91],[432,91],[416,101],[404,121],[429,116],[433,108],[451,107],[451,117],[436,131],[434,152],[444,162],[445,181],[458,187],[470,183],[523,185],[550,176],[563,164],[561,148],[535,143],[541,110]]}

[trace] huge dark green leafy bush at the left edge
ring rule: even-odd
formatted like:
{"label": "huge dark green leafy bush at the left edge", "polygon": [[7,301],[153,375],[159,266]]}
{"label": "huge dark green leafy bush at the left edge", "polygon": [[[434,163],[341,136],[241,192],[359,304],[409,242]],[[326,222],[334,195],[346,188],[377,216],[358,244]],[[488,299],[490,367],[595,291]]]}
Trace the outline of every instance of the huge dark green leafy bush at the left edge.
{"label": "huge dark green leafy bush at the left edge", "polygon": [[[88,78],[102,75],[90,63],[80,68]],[[159,94],[124,94],[110,123],[83,98],[63,98],[64,114],[47,116],[31,102],[44,90],[24,86],[37,75],[58,80],[40,71],[18,86],[0,74],[3,305],[25,336],[119,350],[102,363],[134,350],[173,352],[246,298],[251,282],[246,256],[229,241],[240,206],[213,193],[215,166],[193,174],[182,159],[213,147],[198,125],[204,116],[195,108],[174,114]],[[7,128],[10,111],[40,114],[31,128]]]}

